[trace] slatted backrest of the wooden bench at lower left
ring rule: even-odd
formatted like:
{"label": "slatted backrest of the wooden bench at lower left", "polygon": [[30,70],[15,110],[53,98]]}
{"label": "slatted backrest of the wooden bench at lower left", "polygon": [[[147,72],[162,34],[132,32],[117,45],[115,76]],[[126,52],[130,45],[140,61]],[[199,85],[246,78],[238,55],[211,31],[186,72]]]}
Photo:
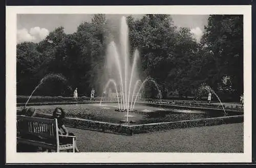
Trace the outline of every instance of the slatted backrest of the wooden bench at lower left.
{"label": "slatted backrest of the wooden bench at lower left", "polygon": [[58,138],[57,119],[45,119],[17,116],[17,132],[20,135],[40,135],[46,138]]}

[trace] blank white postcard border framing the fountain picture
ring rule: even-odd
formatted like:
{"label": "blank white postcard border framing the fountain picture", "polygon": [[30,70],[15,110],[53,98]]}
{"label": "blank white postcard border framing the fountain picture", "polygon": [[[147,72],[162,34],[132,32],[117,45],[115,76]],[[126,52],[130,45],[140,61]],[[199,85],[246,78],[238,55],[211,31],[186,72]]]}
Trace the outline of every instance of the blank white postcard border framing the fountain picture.
{"label": "blank white postcard border framing the fountain picture", "polygon": [[[17,153],[16,14],[243,14],[244,153]],[[7,6],[6,7],[6,162],[139,163],[251,162],[251,6]]]}

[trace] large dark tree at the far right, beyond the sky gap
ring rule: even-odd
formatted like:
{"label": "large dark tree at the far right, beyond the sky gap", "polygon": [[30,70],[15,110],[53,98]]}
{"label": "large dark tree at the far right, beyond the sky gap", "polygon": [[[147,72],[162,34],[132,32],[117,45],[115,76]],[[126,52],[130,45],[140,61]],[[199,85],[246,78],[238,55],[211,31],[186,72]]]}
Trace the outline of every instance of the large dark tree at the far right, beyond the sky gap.
{"label": "large dark tree at the far right, beyond the sky gap", "polygon": [[214,60],[216,75],[212,85],[218,88],[223,77],[228,76],[237,96],[240,95],[243,92],[243,16],[210,15],[201,43],[206,46],[205,53],[210,53]]}

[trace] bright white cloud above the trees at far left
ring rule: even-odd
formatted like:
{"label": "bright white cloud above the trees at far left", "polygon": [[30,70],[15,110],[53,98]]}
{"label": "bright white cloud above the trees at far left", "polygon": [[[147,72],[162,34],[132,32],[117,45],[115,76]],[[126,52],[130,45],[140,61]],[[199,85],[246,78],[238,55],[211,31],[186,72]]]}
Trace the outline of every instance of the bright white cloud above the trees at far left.
{"label": "bright white cloud above the trees at far left", "polygon": [[28,32],[27,29],[17,30],[17,42],[39,42],[49,35],[49,31],[45,28],[33,27]]}

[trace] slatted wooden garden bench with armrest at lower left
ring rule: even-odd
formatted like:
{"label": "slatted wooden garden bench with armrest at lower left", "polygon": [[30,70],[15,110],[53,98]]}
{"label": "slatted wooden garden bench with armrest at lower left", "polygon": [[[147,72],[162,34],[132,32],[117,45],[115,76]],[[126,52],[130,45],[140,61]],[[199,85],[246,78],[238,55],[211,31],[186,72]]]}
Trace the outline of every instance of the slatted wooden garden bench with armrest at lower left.
{"label": "slatted wooden garden bench with armrest at lower left", "polygon": [[[45,119],[26,116],[16,116],[17,143],[27,144],[60,152],[71,150],[75,152],[75,136],[61,135],[58,131],[57,119]],[[38,137],[36,139],[31,137]],[[59,142],[59,137],[72,138],[72,144]]]}

